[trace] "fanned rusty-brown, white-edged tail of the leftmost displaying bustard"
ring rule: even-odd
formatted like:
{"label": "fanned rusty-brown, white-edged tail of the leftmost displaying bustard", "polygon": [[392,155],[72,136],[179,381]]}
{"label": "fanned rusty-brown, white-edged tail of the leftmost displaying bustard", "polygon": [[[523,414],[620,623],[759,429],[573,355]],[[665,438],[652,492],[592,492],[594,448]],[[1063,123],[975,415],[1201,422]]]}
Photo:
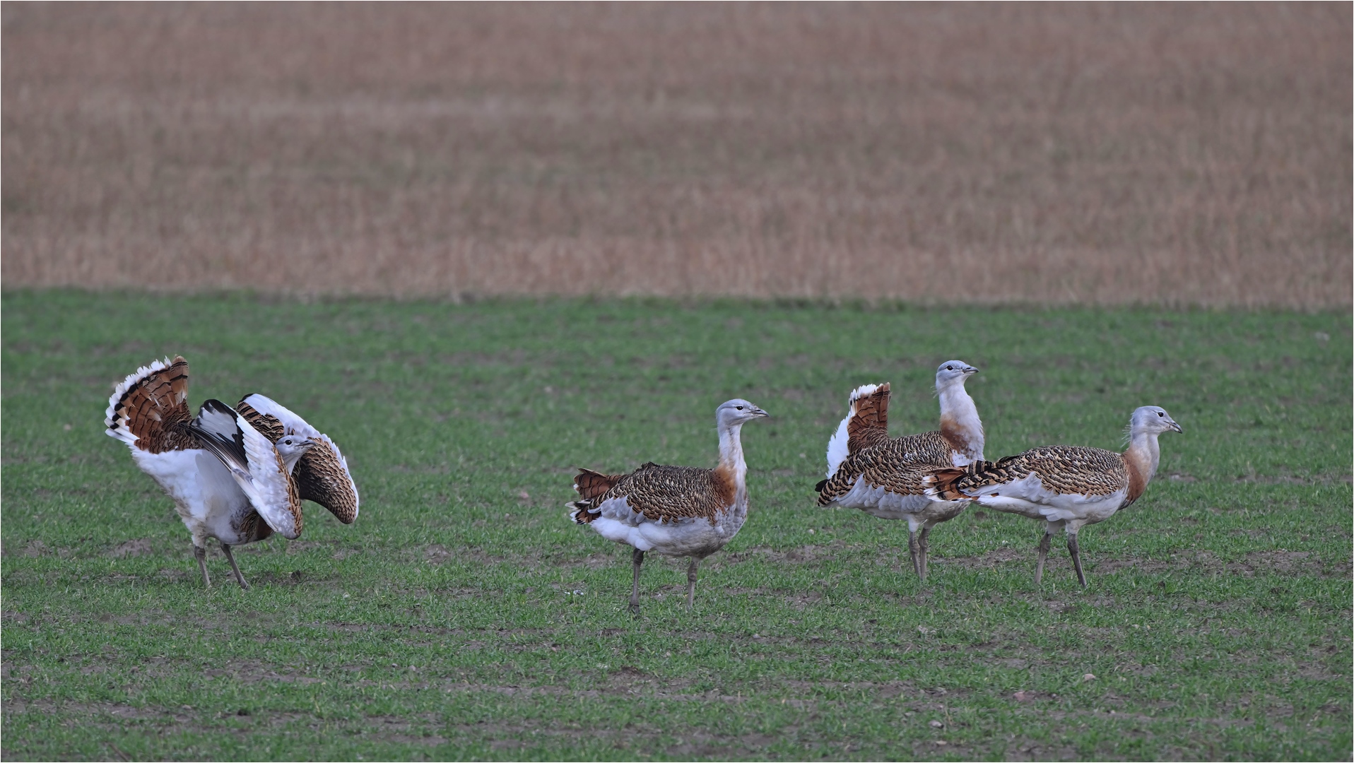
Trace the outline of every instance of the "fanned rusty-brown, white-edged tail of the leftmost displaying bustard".
{"label": "fanned rusty-brown, white-edged tail of the leftmost displaying bustard", "polygon": [[175,357],[168,367],[137,380],[114,404],[114,422],[137,436],[137,448],[150,453],[196,448],[185,432],[188,361]]}

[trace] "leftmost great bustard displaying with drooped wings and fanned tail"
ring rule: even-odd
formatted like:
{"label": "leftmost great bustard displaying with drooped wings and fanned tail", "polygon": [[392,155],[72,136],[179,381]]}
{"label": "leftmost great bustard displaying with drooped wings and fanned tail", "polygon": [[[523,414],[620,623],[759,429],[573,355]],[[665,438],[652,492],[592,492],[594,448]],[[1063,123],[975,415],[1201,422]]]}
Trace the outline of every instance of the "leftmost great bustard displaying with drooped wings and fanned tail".
{"label": "leftmost great bustard displaying with drooped wings and fanned tail", "polygon": [[217,538],[240,587],[248,588],[230,552],[274,532],[301,534],[301,501],[325,506],[344,524],[357,518],[357,488],[329,437],[263,395],[236,409],[207,400],[188,410],[188,361],[175,357],[138,368],[114,388],[107,433],[175,501],[207,575],[207,538]]}

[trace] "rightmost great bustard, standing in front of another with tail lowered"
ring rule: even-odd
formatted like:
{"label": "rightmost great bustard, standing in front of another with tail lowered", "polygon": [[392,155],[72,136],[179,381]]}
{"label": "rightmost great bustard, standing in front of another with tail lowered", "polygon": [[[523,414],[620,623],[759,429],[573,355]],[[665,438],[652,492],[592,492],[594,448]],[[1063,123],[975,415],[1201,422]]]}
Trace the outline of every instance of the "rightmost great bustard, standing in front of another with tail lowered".
{"label": "rightmost great bustard, standing in front of another with tail lowered", "polygon": [[1057,530],[1066,530],[1067,552],[1085,588],[1076,533],[1086,525],[1109,519],[1143,495],[1160,461],[1156,437],[1163,432],[1183,430],[1166,409],[1143,406],[1133,411],[1128,449],[1122,453],[1064,445],[1034,448],[999,461],[934,471],[926,478],[926,495],[942,502],[971,501],[1044,522],[1034,584],[1044,578],[1051,538]]}

